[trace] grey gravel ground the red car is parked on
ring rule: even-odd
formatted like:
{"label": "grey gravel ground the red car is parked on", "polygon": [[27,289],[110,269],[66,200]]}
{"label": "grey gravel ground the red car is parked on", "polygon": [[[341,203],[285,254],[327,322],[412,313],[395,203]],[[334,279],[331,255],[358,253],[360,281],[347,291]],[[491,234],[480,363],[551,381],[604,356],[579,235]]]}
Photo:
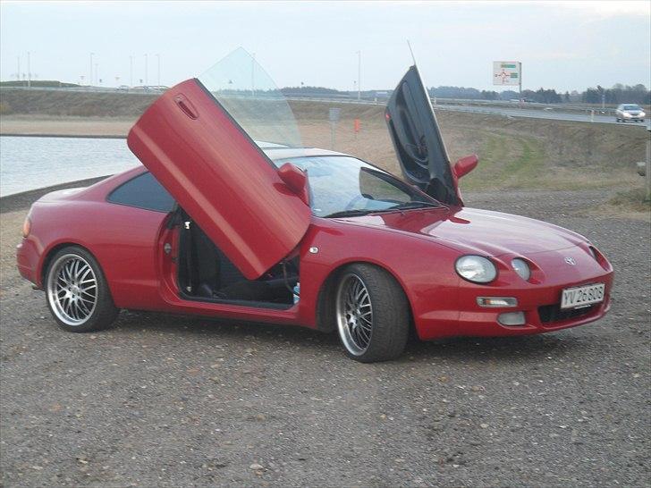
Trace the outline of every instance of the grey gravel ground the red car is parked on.
{"label": "grey gravel ground the red car is parked on", "polygon": [[14,269],[25,209],[4,201],[4,485],[648,486],[648,222],[587,216],[599,191],[467,197],[594,240],[617,273],[610,315],[375,365],[262,324],[123,312],[66,333]]}

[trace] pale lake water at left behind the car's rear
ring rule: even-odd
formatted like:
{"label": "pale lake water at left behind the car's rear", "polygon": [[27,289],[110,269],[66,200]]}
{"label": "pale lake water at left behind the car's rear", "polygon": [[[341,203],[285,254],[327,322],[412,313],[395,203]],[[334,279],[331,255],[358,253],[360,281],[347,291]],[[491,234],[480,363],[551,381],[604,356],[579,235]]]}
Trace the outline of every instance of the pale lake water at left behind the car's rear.
{"label": "pale lake water at left behind the car's rear", "polygon": [[114,174],[138,164],[126,139],[0,136],[0,197]]}

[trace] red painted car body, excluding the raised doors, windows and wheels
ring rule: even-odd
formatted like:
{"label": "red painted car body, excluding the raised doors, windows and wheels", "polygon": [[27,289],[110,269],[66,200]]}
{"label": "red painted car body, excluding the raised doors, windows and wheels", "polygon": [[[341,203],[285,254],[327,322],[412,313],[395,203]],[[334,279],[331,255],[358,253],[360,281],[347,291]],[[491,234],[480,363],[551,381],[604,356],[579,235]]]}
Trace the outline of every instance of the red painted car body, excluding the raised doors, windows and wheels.
{"label": "red painted car body, excluding the raised doors, windows and wheels", "polygon": [[[585,324],[609,307],[613,268],[588,254],[578,234],[525,217],[469,208],[424,209],[349,219],[310,217],[300,241],[300,302],[288,310],[202,303],[182,299],[176,285],[176,247],[166,215],[106,202],[116,186],[144,171],[131,170],[89,189],[39,200],[31,209],[32,231],[18,248],[21,274],[42,286],[45,257],[57,245],[88,248],[102,266],[117,307],[216,316],[317,328],[317,300],[324,282],[342,265],[367,262],[385,268],[410,301],[421,339],[455,335],[519,335]],[[302,205],[302,203],[301,203]],[[101,224],[98,224],[101,223]],[[309,248],[317,247],[317,254]],[[454,272],[457,257],[479,253],[498,266],[495,282],[478,285]],[[512,257],[526,257],[532,278],[511,270]],[[576,266],[566,265],[573,257]],[[563,288],[606,284],[604,303],[588,315],[541,324],[537,307],[559,303]],[[481,308],[478,296],[515,297],[527,324],[505,327],[497,315],[512,309]]]}

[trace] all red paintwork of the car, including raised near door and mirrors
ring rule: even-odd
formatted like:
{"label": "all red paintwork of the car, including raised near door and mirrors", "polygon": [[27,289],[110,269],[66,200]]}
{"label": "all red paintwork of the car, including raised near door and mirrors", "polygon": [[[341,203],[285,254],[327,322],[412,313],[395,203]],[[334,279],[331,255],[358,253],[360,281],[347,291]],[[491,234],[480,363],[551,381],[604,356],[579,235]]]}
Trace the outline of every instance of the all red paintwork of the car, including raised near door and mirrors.
{"label": "all red paintwork of the car, including raised near door and mirrors", "polygon": [[[549,223],[461,206],[338,219],[311,215],[307,187],[301,187],[304,175],[285,166],[283,181],[195,80],[158,98],[133,127],[128,143],[247,277],[257,278],[298,252],[299,303],[277,310],[182,299],[175,263],[178,229],[167,228],[168,215],[106,201],[113,189],[144,172],[142,167],[87,189],[39,199],[30,210],[30,235],[17,249],[22,276],[42,287],[47,259],[56,248],[76,244],[97,258],[117,307],[317,328],[326,280],[342,266],[364,262],[384,268],[401,284],[418,336],[425,340],[557,330],[594,321],[610,306],[612,266],[604,257],[591,257],[582,236]],[[292,151],[278,150],[275,156],[292,157]],[[459,175],[475,164],[474,156],[461,160]],[[172,245],[169,254],[163,252],[166,243]],[[495,281],[462,280],[454,263],[466,254],[489,257],[498,268]],[[511,269],[514,257],[528,260],[528,282]],[[565,257],[576,265],[568,265]],[[564,288],[595,282],[605,283],[605,299],[588,315],[541,323],[538,307],[558,304]],[[479,296],[513,297],[519,306],[482,308]],[[500,313],[513,310],[523,311],[527,324],[498,324]]]}

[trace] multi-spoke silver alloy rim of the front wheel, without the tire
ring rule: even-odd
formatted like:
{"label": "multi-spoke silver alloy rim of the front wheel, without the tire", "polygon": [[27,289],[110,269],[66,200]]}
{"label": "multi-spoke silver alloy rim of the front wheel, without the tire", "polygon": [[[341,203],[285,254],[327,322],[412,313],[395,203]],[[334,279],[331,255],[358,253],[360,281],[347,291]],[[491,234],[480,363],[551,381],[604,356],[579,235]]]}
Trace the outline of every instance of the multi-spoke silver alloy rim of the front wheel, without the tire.
{"label": "multi-spoke silver alloy rim of the front wheel, without the tire", "polygon": [[373,305],[368,289],[355,273],[342,277],[337,289],[337,325],[343,345],[354,356],[368,349],[373,332]]}

